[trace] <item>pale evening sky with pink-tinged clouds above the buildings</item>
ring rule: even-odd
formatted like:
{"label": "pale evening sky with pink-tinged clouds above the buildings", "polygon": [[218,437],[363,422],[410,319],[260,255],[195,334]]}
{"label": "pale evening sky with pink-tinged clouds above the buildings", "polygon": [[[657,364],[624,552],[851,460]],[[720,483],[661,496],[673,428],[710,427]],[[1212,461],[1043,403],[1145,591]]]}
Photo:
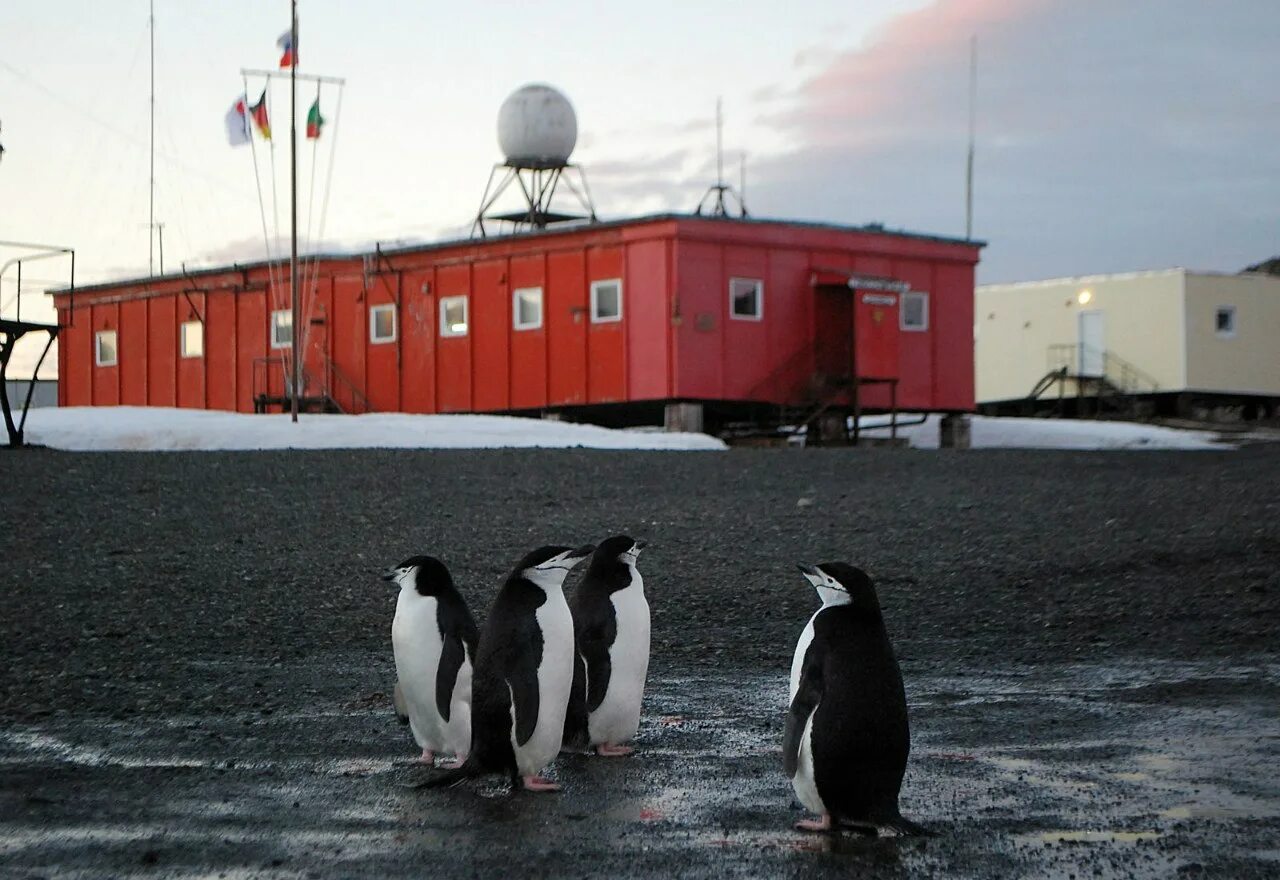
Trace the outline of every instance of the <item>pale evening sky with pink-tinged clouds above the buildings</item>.
{"label": "pale evening sky with pink-tinged clouds above the buildings", "polygon": [[[166,271],[287,235],[287,86],[274,152],[224,127],[287,27],[284,0],[155,0]],[[300,69],[346,79],[301,147],[302,237],[466,234],[502,160],[498,106],[527,82],[573,104],[602,217],[696,207],[722,98],[753,215],[960,237],[975,41],[979,281],[1238,271],[1280,253],[1277,29],[1274,0],[301,0]],[[0,35],[0,239],[74,247],[79,284],[147,274],[148,1],[6,0]],[[65,281],[63,261],[32,263],[23,289]],[[5,316],[14,292],[10,269]]]}

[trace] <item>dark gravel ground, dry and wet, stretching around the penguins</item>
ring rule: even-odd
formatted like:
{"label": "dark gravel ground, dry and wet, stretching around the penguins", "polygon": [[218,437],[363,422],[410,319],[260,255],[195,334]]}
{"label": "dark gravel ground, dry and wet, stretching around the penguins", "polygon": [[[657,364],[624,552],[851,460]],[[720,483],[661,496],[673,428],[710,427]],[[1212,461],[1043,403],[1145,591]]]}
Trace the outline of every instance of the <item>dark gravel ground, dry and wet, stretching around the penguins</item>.
{"label": "dark gravel ground, dry and wet, stretching around the penguins", "polygon": [[[3,875],[1280,871],[1280,445],[6,450],[0,472]],[[562,796],[403,788],[378,573],[438,555],[483,617],[525,550],[623,531],[652,545],[640,755],[562,760]],[[794,563],[832,559],[879,583],[904,805],[941,838],[790,831],[785,674],[815,604]]]}

